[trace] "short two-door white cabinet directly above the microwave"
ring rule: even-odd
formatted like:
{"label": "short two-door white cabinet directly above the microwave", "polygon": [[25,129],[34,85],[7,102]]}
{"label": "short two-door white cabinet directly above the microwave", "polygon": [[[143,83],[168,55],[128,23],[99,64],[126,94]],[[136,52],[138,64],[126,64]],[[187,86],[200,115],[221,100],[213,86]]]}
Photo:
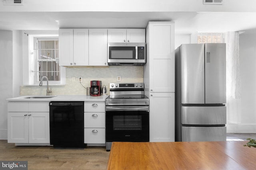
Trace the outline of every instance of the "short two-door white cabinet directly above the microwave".
{"label": "short two-door white cabinet directly above the microwave", "polygon": [[108,43],[145,43],[145,29],[108,29]]}

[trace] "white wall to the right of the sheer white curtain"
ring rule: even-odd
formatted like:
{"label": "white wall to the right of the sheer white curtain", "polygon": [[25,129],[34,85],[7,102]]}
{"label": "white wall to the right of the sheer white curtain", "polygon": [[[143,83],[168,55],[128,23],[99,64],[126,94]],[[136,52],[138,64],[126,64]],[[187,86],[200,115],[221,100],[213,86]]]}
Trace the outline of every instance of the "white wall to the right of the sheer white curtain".
{"label": "white wall to the right of the sheer white curtain", "polygon": [[233,99],[237,103],[234,109],[239,111],[230,119],[227,131],[256,133],[256,33],[242,33],[239,41],[241,99]]}

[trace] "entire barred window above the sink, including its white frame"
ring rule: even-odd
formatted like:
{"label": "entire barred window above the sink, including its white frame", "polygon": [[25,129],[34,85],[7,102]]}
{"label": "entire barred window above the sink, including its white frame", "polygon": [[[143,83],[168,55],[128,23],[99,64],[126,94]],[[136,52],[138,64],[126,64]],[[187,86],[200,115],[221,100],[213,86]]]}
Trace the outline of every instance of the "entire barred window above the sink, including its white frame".
{"label": "entire barred window above the sink, including its white frame", "polygon": [[23,36],[23,85],[38,86],[42,76],[49,85],[66,84],[66,68],[58,62],[58,31],[24,31]]}

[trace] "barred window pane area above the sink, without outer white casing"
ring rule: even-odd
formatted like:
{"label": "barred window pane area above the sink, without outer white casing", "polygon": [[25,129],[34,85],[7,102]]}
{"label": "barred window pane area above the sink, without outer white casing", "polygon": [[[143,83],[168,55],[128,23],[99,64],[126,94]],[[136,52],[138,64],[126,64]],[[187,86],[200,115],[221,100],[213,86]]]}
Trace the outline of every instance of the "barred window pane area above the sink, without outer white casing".
{"label": "barred window pane area above the sink, without outer white casing", "polygon": [[35,37],[35,42],[34,80],[39,82],[47,76],[49,81],[60,81],[58,37]]}

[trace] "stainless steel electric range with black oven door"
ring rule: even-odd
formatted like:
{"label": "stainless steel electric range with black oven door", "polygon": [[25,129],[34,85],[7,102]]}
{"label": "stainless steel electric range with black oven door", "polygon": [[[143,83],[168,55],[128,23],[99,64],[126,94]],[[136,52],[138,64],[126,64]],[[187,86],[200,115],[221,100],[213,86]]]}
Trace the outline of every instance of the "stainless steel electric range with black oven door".
{"label": "stainless steel electric range with black oven door", "polygon": [[143,83],[110,83],[106,98],[106,150],[112,142],[149,141],[149,99]]}

